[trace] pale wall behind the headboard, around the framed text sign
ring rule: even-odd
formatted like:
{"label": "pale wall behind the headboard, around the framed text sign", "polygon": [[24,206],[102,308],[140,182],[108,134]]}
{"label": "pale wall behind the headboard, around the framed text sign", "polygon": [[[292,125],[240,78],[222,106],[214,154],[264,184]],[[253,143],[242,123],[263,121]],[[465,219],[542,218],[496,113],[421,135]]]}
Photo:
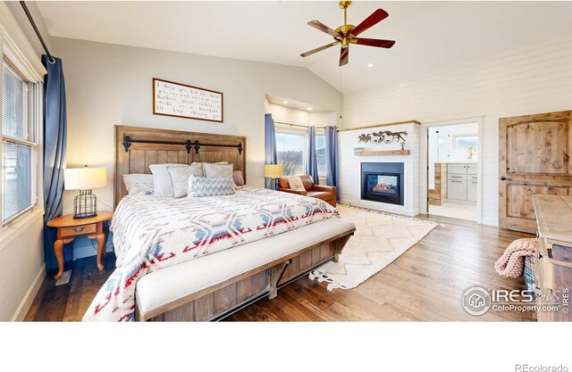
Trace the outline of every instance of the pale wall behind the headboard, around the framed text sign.
{"label": "pale wall behind the headboard, around the framed text sign", "polygon": [[[68,166],[105,166],[107,186],[94,193],[109,205],[114,203],[114,125],[247,136],[247,182],[264,186],[265,94],[312,103],[336,117],[341,112],[340,92],[304,68],[60,37],[53,44],[66,83]],[[153,78],[223,92],[224,122],[153,115]],[[65,193],[64,213],[72,211],[74,194]],[[82,247],[76,257],[94,252],[87,241],[76,246]]]}

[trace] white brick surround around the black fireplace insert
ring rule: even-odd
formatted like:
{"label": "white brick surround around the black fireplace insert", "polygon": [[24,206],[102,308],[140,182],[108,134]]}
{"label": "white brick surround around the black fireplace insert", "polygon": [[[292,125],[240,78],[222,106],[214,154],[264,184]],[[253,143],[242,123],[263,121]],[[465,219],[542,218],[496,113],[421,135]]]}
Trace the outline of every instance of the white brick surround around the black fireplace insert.
{"label": "white brick surround around the black fireplace insert", "polygon": [[[366,151],[400,150],[401,145],[396,141],[391,144],[374,144],[372,142],[358,143],[358,136],[374,132],[389,130],[391,132],[407,131],[405,150],[408,155],[390,156],[358,156],[354,154],[355,146],[363,146]],[[419,214],[419,125],[415,122],[380,126],[374,128],[357,128],[341,130],[338,132],[338,156],[340,171],[340,198],[341,203],[358,207],[369,208],[376,211],[399,213],[406,216]],[[372,137],[375,138],[375,137]],[[379,203],[361,200],[361,163],[362,162],[403,162],[404,179],[404,205]]]}

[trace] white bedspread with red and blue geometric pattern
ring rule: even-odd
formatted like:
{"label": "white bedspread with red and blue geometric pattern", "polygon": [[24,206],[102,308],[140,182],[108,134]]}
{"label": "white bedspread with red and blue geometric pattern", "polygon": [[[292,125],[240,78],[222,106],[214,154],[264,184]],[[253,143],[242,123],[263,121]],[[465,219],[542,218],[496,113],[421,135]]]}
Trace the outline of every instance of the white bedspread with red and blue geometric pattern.
{"label": "white bedspread with red and blue geometric pattern", "polygon": [[322,200],[253,186],[203,198],[125,196],[111,227],[117,269],[83,320],[132,320],[135,285],[152,271],[334,216]]}

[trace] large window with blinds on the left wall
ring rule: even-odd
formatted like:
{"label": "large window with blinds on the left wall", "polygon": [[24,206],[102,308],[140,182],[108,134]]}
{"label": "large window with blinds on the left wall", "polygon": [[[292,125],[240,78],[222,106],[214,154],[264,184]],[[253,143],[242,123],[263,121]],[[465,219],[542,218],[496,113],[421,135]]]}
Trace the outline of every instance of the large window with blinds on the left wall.
{"label": "large window with blinds on the left wall", "polygon": [[29,120],[29,87],[33,87],[3,57],[2,70],[2,223],[36,205],[37,144]]}

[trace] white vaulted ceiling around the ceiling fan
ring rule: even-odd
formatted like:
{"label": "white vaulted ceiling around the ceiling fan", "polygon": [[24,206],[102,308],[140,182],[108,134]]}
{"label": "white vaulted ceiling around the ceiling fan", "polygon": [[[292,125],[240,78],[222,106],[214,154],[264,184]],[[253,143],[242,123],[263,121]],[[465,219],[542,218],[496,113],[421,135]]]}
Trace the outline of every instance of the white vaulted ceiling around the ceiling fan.
{"label": "white vaulted ceiling around the ceiling fan", "polygon": [[[390,16],[360,37],[394,39],[391,49],[339,46],[307,26],[336,29],[337,2],[38,2],[52,36],[304,66],[344,93],[572,36],[572,2],[354,2],[349,23],[377,8]],[[366,67],[369,62],[373,68]]]}

